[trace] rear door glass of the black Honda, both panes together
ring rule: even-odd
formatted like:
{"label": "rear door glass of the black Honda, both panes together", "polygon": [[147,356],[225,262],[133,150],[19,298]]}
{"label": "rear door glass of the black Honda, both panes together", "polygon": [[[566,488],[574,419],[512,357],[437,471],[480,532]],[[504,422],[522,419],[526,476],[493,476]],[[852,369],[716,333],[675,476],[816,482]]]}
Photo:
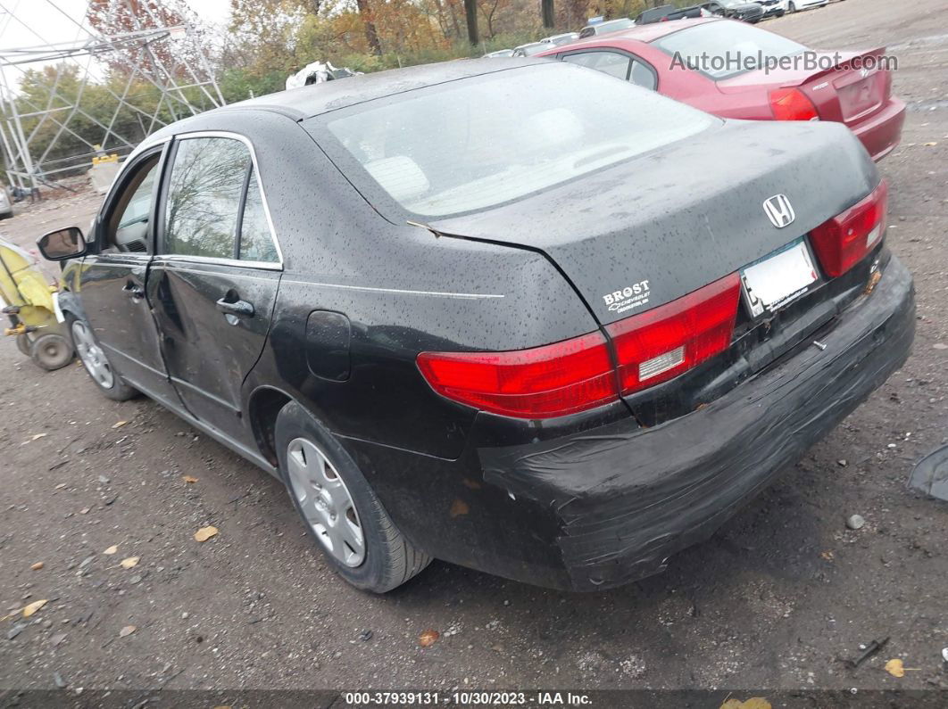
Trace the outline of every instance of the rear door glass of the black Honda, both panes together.
{"label": "rear door glass of the black Honda, both panes together", "polygon": [[174,153],[162,253],[278,262],[263,195],[246,144],[185,138]]}

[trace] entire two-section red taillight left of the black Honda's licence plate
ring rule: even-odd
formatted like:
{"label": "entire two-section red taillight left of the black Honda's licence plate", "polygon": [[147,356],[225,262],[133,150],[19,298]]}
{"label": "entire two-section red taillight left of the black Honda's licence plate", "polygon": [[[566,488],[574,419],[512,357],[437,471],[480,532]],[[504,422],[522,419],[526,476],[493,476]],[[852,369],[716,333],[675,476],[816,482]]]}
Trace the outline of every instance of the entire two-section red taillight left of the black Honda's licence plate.
{"label": "entire two-section red taillight left of the black Honda's licence plate", "polygon": [[599,332],[513,352],[422,352],[418,368],[447,399],[502,416],[551,418],[592,409],[619,392],[667,381],[727,349],[740,282],[729,275],[606,329],[618,384]]}

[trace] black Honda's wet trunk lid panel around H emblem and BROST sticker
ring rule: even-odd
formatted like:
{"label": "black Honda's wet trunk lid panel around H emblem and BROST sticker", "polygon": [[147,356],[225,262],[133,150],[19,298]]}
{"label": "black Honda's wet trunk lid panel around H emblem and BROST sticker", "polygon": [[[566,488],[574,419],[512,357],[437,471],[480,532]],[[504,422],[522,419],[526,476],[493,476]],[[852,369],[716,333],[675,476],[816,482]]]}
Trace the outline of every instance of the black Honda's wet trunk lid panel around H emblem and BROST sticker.
{"label": "black Honda's wet trunk lid panel around H emblem and BROST sticker", "polygon": [[[546,254],[605,325],[735,273],[878,182],[843,126],[727,121],[513,204],[429,226]],[[795,212],[783,228],[763,208],[780,194]],[[611,294],[626,289],[641,296],[635,310],[611,309]]]}

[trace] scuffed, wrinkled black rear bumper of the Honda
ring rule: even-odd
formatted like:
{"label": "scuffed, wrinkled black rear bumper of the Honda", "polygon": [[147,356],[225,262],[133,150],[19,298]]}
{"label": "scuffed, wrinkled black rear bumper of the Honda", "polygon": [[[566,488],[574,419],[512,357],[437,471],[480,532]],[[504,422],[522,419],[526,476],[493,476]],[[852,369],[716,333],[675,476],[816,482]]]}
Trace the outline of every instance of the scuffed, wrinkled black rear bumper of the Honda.
{"label": "scuffed, wrinkled black rear bumper of the Honda", "polygon": [[875,290],[821,335],[825,349],[803,348],[654,428],[624,420],[481,448],[484,480],[556,515],[551,542],[561,554],[563,586],[591,591],[659,573],[670,555],[710,537],[901,367],[914,334],[912,277],[893,257]]}

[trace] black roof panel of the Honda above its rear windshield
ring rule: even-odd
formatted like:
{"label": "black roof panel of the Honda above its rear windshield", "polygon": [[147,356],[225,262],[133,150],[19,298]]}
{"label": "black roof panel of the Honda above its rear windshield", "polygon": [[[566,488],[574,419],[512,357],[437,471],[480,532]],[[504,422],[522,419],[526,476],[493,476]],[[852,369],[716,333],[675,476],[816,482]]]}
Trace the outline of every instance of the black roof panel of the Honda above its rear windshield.
{"label": "black roof panel of the Honda above its rear windshield", "polygon": [[[434,84],[468,79],[507,69],[548,63],[545,59],[465,59],[453,62],[422,64],[404,69],[389,69],[325,83],[301,86],[298,89],[250,98],[230,104],[230,108],[257,108],[294,115],[297,119],[324,114],[340,108],[401,94]],[[225,109],[225,110],[227,110]]]}

